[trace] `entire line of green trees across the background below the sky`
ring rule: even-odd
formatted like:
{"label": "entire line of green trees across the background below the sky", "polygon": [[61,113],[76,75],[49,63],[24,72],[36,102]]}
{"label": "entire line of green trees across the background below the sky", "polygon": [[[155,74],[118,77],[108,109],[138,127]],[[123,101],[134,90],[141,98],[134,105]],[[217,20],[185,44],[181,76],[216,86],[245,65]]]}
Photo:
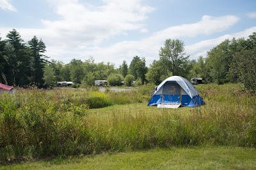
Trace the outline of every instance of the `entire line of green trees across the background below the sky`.
{"label": "entire line of green trees across the background below the sky", "polygon": [[201,77],[206,82],[218,84],[241,82],[255,92],[256,32],[248,39],[226,39],[215,46],[207,57],[189,60],[180,39],[166,39],[159,49],[159,59],[146,66],[144,57],[133,57],[130,64],[124,60],[119,67],[104,62],[95,63],[92,57],[84,61],[72,59],[68,64],[49,60],[45,56],[46,46],[42,39],[34,36],[24,43],[15,29],[6,39],[0,38],[1,83],[9,85],[55,86],[57,81],[73,81],[77,85],[93,85],[94,80],[108,80],[111,85],[125,81],[131,85],[159,84],[165,78],[179,75],[188,80]]}

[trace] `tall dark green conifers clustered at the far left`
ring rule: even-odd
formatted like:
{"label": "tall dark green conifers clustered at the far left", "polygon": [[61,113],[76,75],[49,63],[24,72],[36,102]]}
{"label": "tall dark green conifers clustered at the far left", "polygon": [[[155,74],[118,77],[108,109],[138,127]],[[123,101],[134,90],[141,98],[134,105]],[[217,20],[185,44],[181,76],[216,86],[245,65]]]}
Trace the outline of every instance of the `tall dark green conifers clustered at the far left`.
{"label": "tall dark green conifers clustered at the far left", "polygon": [[0,71],[4,78],[0,81],[9,85],[29,85],[34,83],[42,86],[45,57],[45,44],[40,39],[32,38],[24,43],[15,29],[8,32],[6,40],[0,39]]}

